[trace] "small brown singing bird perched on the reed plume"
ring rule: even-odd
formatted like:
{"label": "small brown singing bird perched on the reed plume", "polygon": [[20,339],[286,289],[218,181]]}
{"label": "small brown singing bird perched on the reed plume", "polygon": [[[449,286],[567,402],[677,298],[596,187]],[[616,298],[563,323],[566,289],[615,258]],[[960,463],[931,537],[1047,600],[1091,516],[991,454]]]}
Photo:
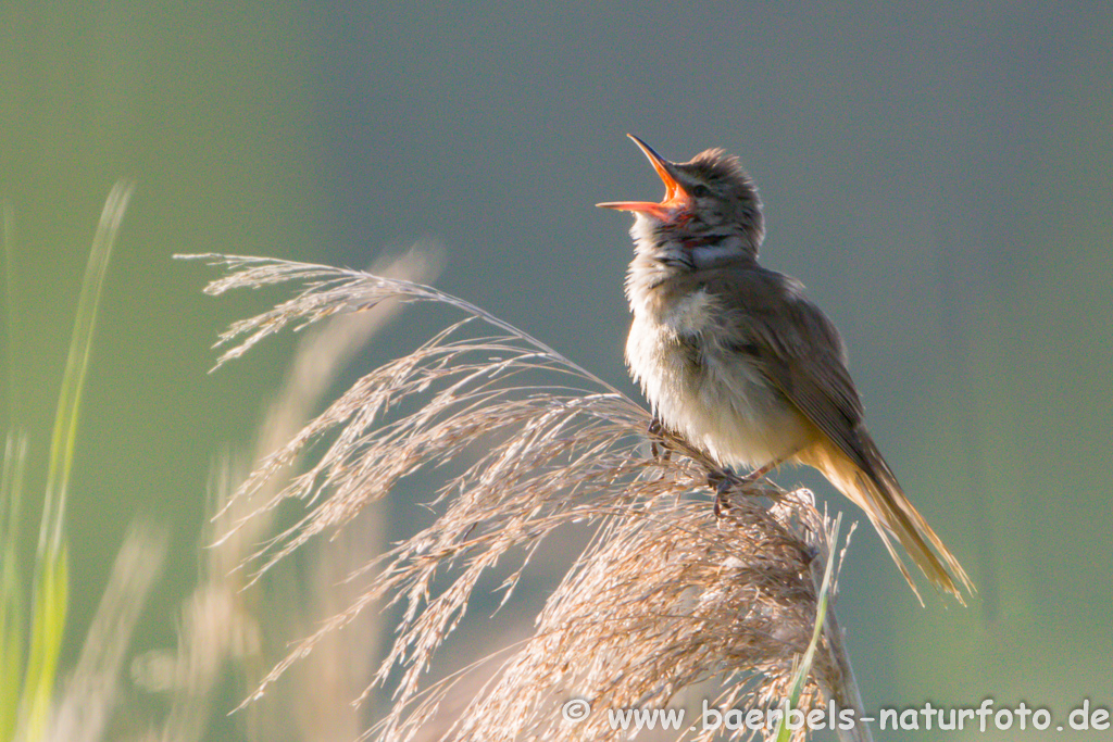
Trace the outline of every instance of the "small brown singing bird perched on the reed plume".
{"label": "small brown singing bird perched on the reed plume", "polygon": [[818,469],[865,512],[922,604],[894,542],[965,604],[959,585],[973,594],[974,583],[866,429],[835,325],[800,281],[758,264],[762,204],[738,158],[708,149],[671,162],[628,136],[663,181],[664,198],[598,206],[633,214],[626,360],[654,424],[723,472],[750,469],[747,483],[782,464]]}

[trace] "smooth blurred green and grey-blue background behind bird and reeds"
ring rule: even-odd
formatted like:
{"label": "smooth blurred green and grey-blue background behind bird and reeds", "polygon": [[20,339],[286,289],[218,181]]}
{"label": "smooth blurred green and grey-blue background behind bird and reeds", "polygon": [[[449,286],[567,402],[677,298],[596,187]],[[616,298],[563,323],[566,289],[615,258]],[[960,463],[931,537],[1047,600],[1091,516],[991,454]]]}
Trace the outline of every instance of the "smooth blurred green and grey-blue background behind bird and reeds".
{"label": "smooth blurred green and grey-blue background behind bird and reeds", "polygon": [[269,343],[206,375],[217,332],[280,294],[206,298],[173,254],[363,267],[436,238],[443,288],[633,394],[629,224],[592,208],[659,195],[632,131],[741,157],[765,264],[841,328],[875,437],[981,588],[922,610],[859,530],[839,612],[867,709],[1109,706],[1113,7],[935,4],[6,0],[0,422],[31,434],[30,493],[101,205],[139,182],[82,407],[63,662],[137,513],[173,545],[136,645],[173,645],[209,463],[283,374]]}

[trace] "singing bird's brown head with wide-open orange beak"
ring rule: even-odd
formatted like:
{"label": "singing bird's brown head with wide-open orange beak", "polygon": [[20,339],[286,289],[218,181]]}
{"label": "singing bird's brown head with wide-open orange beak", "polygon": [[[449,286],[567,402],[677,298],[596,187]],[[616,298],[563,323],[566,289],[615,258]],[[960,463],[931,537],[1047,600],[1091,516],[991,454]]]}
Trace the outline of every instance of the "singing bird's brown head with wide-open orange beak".
{"label": "singing bird's brown head with wide-open orange beak", "polygon": [[708,149],[688,162],[670,162],[628,136],[664,182],[664,198],[599,206],[634,212],[631,235],[640,255],[689,268],[725,258],[757,258],[765,236],[761,199],[738,158]]}

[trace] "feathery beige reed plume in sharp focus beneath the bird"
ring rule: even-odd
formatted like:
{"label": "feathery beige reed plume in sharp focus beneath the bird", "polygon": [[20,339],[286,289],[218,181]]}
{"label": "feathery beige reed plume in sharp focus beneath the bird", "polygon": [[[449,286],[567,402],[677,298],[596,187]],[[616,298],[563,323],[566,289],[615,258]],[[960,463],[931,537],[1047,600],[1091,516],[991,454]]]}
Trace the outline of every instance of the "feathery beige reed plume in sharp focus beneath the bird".
{"label": "feathery beige reed plume in sharp focus beneath the bird", "polygon": [[[650,413],[621,392],[429,286],[269,258],[188,257],[227,270],[206,288],[213,295],[298,286],[293,298],[221,335],[218,366],[284,328],[383,301],[457,314],[412,353],[359,378],[237,492],[242,527],[287,501],[304,508],[250,556],[246,566],[257,578],[311,540],[335,535],[404,478],[447,472],[430,503],[433,523],[356,570],[353,578],[374,575],[371,587],[297,643],[256,696],[365,610],[398,606],[395,639],[358,699],[382,686],[392,702],[363,739],[620,739],[630,732],[610,726],[609,710],[663,708],[690,689],[711,694],[720,709],[779,706],[788,698],[825,604],[817,575],[835,558],[830,523],[810,493],[771,484],[756,492],[730,478],[729,506],[716,516],[708,481],[721,473],[705,452],[648,433]],[[307,468],[274,486],[303,456]],[[244,502],[252,503],[246,511]],[[518,558],[499,587],[511,600],[530,557],[573,524],[593,535],[532,635],[489,657],[493,669],[481,684],[474,667],[430,682],[434,654],[482,578]],[[831,701],[860,715],[841,632],[833,611],[824,613],[797,705]],[[469,699],[449,713],[444,701],[461,687]],[[580,718],[561,713],[571,699],[585,702]],[[864,726],[847,734],[869,739]]]}

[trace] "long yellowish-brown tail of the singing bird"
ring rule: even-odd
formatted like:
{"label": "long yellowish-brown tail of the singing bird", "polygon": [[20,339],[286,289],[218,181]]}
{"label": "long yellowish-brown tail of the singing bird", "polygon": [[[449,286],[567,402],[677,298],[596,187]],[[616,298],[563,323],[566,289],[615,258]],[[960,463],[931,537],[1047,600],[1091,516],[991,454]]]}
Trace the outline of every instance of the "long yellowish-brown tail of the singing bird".
{"label": "long yellowish-brown tail of the singing bird", "polygon": [[965,605],[966,601],[963,600],[959,585],[967,593],[973,594],[976,591],[966,571],[954,554],[943,545],[943,541],[935,535],[932,526],[927,525],[924,516],[905,497],[896,476],[869,436],[863,431],[857,437],[861,444],[865,467],[856,464],[834,446],[825,447],[823,455],[809,456],[808,458],[812,461],[807,463],[823,472],[831,484],[866,512],[920,604],[924,598],[916,588],[904,560],[897,553],[893,537],[900,542],[905,552],[933,585],[951,593]]}

